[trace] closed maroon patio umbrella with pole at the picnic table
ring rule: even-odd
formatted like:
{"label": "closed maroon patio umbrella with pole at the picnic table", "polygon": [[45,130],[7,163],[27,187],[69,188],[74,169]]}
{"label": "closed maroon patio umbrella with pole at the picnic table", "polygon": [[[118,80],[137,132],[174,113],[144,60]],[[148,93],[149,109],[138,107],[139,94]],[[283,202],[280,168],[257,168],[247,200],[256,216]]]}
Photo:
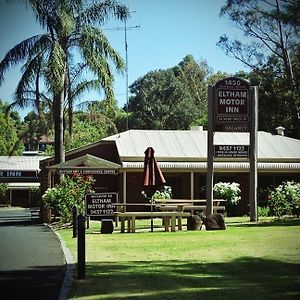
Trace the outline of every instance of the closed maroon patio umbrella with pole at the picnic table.
{"label": "closed maroon patio umbrella with pole at the picnic table", "polygon": [[[154,158],[154,149],[148,147],[144,159],[144,189],[147,198],[151,201],[151,213],[153,211],[152,196],[156,189],[164,185],[166,180]],[[151,216],[151,231],[153,231],[153,218]]]}

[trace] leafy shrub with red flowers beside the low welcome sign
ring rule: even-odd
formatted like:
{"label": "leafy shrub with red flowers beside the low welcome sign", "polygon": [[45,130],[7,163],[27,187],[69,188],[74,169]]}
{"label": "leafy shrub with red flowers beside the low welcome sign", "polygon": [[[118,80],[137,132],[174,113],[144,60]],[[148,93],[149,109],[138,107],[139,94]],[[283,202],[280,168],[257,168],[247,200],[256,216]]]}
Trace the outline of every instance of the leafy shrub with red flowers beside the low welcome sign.
{"label": "leafy shrub with red flowers beside the low welcome sign", "polygon": [[72,219],[73,206],[76,205],[78,211],[84,213],[85,195],[92,192],[94,182],[90,175],[66,175],[59,184],[47,189],[42,200],[46,207],[60,214],[62,222],[69,222]]}

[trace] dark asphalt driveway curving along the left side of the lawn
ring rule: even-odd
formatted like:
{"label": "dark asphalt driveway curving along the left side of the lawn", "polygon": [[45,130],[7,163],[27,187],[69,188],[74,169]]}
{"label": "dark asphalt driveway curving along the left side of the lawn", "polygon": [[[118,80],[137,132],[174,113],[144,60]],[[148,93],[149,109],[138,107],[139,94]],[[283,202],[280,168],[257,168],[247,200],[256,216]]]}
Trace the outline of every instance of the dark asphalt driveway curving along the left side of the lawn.
{"label": "dark asphalt driveway curving along the left side of the lawn", "polygon": [[20,211],[0,208],[0,299],[59,299],[65,274],[60,242],[47,226],[22,221]]}

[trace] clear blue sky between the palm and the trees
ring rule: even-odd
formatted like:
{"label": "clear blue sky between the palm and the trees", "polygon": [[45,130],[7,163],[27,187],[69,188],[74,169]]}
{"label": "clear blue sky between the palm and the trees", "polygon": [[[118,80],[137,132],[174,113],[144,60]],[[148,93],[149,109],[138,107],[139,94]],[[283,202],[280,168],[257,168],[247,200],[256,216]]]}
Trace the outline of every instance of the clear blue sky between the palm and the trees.
{"label": "clear blue sky between the palm and the trees", "polygon": [[[18,1],[15,1],[18,2]],[[147,72],[177,65],[186,55],[199,61],[205,59],[216,71],[235,73],[247,70],[237,60],[227,57],[216,46],[220,35],[239,37],[241,33],[229,20],[219,17],[225,0],[121,0],[132,13],[127,31],[129,85]],[[122,27],[120,22],[109,22],[104,28]],[[22,3],[0,0],[0,59],[18,42],[42,32],[34,16]],[[124,30],[106,31],[112,46],[125,60]],[[0,87],[0,99],[11,102],[20,78],[20,68],[6,73]],[[115,77],[115,95],[120,107],[126,102],[125,75]],[[102,99],[90,93],[82,100]],[[22,116],[26,111],[19,111]]]}

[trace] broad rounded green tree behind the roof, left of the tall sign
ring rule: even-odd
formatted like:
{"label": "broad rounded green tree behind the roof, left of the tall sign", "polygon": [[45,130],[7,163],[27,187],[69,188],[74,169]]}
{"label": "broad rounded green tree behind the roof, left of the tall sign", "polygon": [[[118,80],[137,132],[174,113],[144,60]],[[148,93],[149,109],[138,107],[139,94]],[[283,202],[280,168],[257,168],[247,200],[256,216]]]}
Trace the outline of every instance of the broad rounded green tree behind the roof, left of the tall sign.
{"label": "broad rounded green tree behind the roof, left of the tall sign", "polygon": [[177,130],[205,125],[209,74],[204,61],[197,63],[188,55],[173,68],[151,71],[136,80],[130,86],[130,128]]}

